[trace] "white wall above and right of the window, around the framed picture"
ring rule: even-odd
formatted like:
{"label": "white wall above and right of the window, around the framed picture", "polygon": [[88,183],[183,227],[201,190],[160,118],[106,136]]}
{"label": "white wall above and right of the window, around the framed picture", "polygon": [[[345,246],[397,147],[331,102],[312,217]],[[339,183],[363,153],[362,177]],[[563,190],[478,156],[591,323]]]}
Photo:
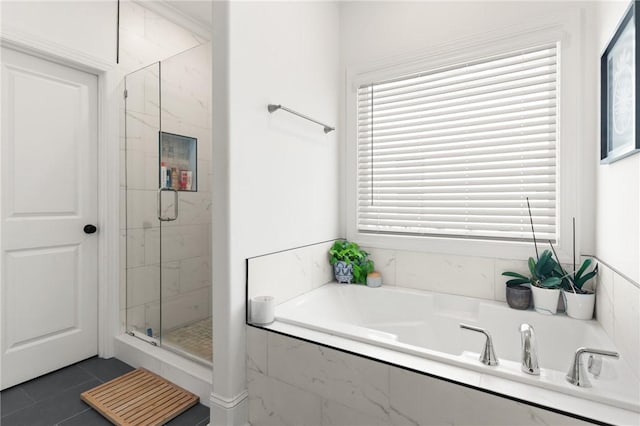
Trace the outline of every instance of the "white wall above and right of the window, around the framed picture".
{"label": "white wall above and right of the window, around the framed picture", "polygon": [[578,159],[581,185],[576,188],[581,253],[596,255],[638,282],[640,155],[608,166],[598,164],[600,52],[627,6],[627,1],[345,2],[341,4],[341,66],[417,55],[451,40],[582,9],[586,107],[581,117],[582,158]]}

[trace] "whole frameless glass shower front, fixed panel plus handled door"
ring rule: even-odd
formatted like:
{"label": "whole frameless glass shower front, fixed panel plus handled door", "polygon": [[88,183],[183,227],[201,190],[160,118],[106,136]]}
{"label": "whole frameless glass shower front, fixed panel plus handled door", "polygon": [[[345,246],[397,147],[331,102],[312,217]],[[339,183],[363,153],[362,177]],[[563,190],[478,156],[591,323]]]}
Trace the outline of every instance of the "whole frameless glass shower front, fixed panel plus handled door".
{"label": "whole frameless glass shower front, fixed panel plus handled door", "polygon": [[126,331],[212,360],[211,64],[198,46],[125,77]]}

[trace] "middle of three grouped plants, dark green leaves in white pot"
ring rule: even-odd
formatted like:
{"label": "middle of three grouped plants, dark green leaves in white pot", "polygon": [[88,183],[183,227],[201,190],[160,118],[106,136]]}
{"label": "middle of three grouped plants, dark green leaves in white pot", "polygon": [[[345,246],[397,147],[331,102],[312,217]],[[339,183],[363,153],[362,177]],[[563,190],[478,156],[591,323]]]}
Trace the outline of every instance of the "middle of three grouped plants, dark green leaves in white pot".
{"label": "middle of three grouped plants, dark green leaves in white pot", "polygon": [[558,263],[553,260],[553,253],[545,250],[537,260],[530,257],[528,265],[531,274],[528,277],[517,272],[502,273],[504,276],[512,277],[507,281],[507,288],[525,283],[531,284],[533,307],[536,312],[555,314],[558,310],[562,279],[557,276]]}

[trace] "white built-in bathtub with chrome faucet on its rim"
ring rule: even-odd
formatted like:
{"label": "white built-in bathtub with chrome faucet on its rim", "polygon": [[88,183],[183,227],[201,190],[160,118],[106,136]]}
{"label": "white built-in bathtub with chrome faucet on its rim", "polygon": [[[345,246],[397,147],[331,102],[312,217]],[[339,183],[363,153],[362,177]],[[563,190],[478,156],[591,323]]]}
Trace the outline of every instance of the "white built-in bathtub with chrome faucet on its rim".
{"label": "white built-in bathtub with chrome faucet on its rim", "polygon": [[[629,365],[632,361],[624,356],[603,359],[600,377],[589,374],[591,388],[565,380],[577,348],[616,350],[596,321],[545,316],[513,310],[500,302],[398,287],[327,284],[278,305],[276,322],[640,412],[640,381]],[[480,363],[485,338],[460,329],[460,323],[489,331],[498,366]],[[522,323],[535,329],[539,376],[520,370]]]}

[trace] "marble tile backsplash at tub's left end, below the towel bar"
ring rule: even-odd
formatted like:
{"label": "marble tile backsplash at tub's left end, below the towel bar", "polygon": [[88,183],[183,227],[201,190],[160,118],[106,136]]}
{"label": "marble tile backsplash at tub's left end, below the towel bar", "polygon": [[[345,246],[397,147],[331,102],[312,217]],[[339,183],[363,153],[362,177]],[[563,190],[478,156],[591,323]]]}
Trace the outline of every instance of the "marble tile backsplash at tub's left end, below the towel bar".
{"label": "marble tile backsplash at tub's left end, below the towel bar", "polygon": [[247,259],[248,299],[273,296],[276,305],[333,281],[332,241]]}

